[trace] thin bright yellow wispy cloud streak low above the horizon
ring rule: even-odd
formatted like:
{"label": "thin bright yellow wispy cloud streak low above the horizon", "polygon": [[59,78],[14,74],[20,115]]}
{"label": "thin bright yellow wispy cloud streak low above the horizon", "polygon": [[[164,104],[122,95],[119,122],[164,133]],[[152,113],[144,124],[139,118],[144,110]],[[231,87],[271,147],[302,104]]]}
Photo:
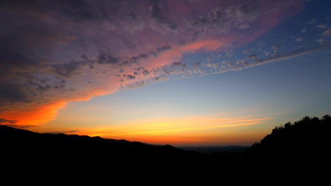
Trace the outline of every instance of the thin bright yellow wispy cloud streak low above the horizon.
{"label": "thin bright yellow wispy cloud streak low above the horizon", "polygon": [[[240,127],[244,125],[262,124],[271,118],[251,117],[215,117],[192,116],[184,118],[154,118],[141,121],[132,121],[133,124],[121,124],[110,128],[85,131],[90,136],[133,137],[133,136],[159,136],[174,133],[209,130],[223,127]],[[98,133],[97,131],[103,131]],[[107,132],[108,131],[108,132]]]}

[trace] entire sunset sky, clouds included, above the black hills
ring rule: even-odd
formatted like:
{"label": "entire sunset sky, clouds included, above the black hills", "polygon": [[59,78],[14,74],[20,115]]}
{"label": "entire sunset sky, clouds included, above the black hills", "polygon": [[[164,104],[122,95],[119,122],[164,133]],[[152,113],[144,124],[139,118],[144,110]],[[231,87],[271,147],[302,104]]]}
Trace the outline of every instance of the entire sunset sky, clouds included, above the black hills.
{"label": "entire sunset sky, clouds included, above the black hills", "polygon": [[330,0],[2,0],[0,124],[251,145],[331,114]]}

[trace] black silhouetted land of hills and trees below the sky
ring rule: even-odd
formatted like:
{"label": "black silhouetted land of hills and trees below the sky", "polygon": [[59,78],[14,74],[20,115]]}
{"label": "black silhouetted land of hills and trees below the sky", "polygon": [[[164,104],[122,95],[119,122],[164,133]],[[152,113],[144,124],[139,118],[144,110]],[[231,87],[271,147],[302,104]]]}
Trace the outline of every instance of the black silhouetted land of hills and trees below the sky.
{"label": "black silhouetted land of hills and trees below the sky", "polygon": [[2,186],[284,186],[329,183],[331,116],[275,127],[244,153],[200,154],[170,145],[0,125]]}

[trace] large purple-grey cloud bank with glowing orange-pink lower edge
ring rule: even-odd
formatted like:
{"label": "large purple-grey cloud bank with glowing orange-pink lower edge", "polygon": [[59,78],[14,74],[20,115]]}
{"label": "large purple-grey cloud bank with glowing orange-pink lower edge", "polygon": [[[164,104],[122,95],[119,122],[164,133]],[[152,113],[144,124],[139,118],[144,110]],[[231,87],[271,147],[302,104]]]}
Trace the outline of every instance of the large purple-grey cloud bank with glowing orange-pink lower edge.
{"label": "large purple-grey cloud bank with glowing orange-pink lower edge", "polygon": [[0,118],[45,124],[67,102],[166,80],[165,66],[174,76],[207,73],[183,55],[254,41],[302,7],[285,0],[5,1]]}

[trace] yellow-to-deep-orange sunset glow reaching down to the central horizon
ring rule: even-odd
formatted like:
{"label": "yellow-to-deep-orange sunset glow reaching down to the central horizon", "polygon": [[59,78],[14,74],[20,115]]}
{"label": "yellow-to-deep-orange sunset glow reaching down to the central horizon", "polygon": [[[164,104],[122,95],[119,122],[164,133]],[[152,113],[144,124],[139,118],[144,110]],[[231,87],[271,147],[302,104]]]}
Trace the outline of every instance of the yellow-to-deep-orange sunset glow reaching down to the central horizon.
{"label": "yellow-to-deep-orange sunset glow reaching down to the central horizon", "polygon": [[[271,118],[192,116],[185,118],[155,118],[132,121],[130,124],[83,130],[80,135],[125,139],[153,144],[240,144],[259,139],[265,133],[241,133],[238,127],[263,124]],[[208,135],[206,135],[208,134]],[[207,137],[208,136],[208,137]]]}

